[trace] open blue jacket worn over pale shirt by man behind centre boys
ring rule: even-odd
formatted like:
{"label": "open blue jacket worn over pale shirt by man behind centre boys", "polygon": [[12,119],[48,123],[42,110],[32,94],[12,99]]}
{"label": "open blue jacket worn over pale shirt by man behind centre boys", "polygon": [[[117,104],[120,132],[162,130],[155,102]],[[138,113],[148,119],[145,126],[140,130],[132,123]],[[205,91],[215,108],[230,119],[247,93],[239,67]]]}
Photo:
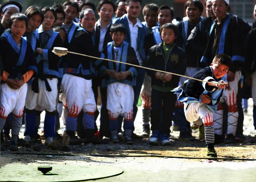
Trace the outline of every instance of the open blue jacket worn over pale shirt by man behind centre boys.
{"label": "open blue jacket worn over pale shirt by man behind centre boys", "polygon": [[[126,32],[126,37],[125,37],[124,40],[126,42],[128,42],[129,44],[131,44],[130,30],[129,30],[127,15],[124,14],[122,17],[114,19],[113,24],[116,24],[116,23],[121,23],[121,24],[125,25],[127,32]],[[142,28],[139,27],[139,29],[138,29],[137,44],[138,44],[139,53],[140,53],[140,56],[141,56],[141,59],[142,59],[143,63],[146,60],[146,53],[145,53],[145,49],[144,49],[144,41],[145,41],[147,33],[148,33],[147,27],[142,24]]]}

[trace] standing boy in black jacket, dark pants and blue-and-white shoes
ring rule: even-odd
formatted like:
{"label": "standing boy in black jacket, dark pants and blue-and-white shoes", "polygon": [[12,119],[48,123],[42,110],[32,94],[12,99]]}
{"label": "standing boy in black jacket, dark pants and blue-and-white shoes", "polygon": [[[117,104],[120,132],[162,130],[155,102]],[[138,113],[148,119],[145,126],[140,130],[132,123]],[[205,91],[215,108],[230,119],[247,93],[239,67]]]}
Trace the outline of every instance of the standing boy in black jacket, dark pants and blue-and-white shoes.
{"label": "standing boy in black jacket, dark pants and blue-and-white shoes", "polygon": [[[160,29],[162,43],[150,48],[146,66],[162,71],[184,74],[186,58],[182,48],[174,44],[178,29],[171,23],[162,25]],[[169,135],[176,95],[170,90],[178,86],[179,76],[148,71],[152,82],[151,130],[149,144],[170,145]],[[162,112],[162,113],[161,113]],[[160,121],[162,115],[162,122]]]}

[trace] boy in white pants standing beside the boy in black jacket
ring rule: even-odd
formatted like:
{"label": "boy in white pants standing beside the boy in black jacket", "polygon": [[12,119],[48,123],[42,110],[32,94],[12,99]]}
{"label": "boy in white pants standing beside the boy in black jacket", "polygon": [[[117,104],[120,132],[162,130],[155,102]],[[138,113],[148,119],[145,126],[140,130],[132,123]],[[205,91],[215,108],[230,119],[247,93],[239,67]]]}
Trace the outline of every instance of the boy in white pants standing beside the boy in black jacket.
{"label": "boy in white pants standing beside the boy in black jacket", "polygon": [[[108,59],[114,59],[121,62],[138,65],[135,50],[126,42],[123,42],[126,35],[126,28],[122,24],[114,24],[110,28],[110,35],[113,42],[108,43],[105,55]],[[127,144],[132,142],[132,119],[134,91],[136,84],[137,69],[135,67],[106,62],[108,68],[108,78],[102,81],[102,87],[107,86],[107,109],[109,114],[109,123],[111,139],[113,143],[118,143],[118,117],[124,117],[124,133]],[[127,99],[129,96],[129,99]]]}

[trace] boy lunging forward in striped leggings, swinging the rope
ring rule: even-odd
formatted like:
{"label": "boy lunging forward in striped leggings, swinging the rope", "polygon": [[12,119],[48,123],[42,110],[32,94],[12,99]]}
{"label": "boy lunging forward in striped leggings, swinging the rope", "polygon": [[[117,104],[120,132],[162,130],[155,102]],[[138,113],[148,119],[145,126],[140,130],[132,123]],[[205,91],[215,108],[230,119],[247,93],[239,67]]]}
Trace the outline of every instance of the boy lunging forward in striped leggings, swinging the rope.
{"label": "boy lunging forward in striped leggings, swinging the rope", "polygon": [[225,83],[222,79],[228,73],[230,65],[231,58],[228,55],[218,54],[214,57],[211,66],[193,75],[193,78],[204,82],[189,79],[188,82],[174,89],[176,94],[180,94],[178,100],[184,102],[186,119],[199,126],[199,139],[205,138],[208,157],[217,157],[214,149],[213,113],[217,110],[223,88],[226,87],[225,84],[220,83]]}

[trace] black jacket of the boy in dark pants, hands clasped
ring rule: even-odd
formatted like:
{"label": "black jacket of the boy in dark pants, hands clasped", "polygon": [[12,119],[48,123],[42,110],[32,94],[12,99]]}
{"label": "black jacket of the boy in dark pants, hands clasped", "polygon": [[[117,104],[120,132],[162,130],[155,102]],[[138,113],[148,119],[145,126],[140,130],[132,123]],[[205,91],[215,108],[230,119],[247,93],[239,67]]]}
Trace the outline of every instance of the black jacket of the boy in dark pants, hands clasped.
{"label": "black jacket of the boy in dark pants, hands clasped", "polygon": [[[182,48],[174,44],[169,52],[168,57],[166,58],[163,50],[163,43],[160,43],[150,48],[145,66],[148,68],[184,75],[186,71],[186,54]],[[170,82],[162,82],[161,80],[155,79],[155,71],[147,71],[148,75],[150,75],[152,78],[152,85],[160,87],[178,86],[180,76],[172,75],[172,79]]]}

